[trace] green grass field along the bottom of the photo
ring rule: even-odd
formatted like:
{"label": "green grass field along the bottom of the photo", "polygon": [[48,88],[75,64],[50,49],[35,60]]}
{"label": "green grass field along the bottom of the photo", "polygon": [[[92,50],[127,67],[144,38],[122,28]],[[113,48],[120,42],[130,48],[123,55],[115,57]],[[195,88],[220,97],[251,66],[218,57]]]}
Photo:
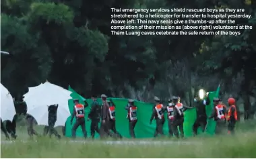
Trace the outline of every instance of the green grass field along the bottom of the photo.
{"label": "green grass field along the bottom of the photo", "polygon": [[[130,145],[122,144],[127,140],[109,145],[100,140],[74,143],[67,138],[50,140],[43,137],[34,138],[37,141],[34,142],[25,137],[24,129],[19,129],[24,136],[18,133],[20,138],[15,143],[1,143],[1,158],[256,158],[255,126],[255,121],[240,123],[235,136],[201,136],[184,140],[137,139],[129,140],[134,142]],[[152,144],[138,144],[146,141]],[[164,141],[170,143],[164,144]]]}

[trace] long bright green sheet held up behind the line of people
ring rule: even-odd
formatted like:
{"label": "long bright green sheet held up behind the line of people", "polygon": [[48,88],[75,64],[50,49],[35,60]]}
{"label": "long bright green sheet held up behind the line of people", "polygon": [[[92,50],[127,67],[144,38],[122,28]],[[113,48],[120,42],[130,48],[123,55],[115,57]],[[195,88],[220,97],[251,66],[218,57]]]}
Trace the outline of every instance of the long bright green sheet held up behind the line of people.
{"label": "long bright green sheet held up behind the line of people", "polygon": [[[79,99],[79,102],[84,104],[84,98],[80,95],[78,95],[73,89],[69,87],[69,91],[72,91],[71,97],[73,99]],[[213,93],[210,93],[212,95]],[[110,99],[110,98],[109,98]],[[125,105],[127,105],[128,100],[127,99],[119,99],[119,98],[111,98],[113,99],[113,102],[116,105],[116,128],[119,133],[125,137],[130,138],[129,136],[129,123],[126,118],[127,111],[125,110]],[[89,107],[86,108],[86,119],[88,117],[88,113],[90,112],[90,105],[92,103],[91,99],[86,100],[89,104]],[[99,103],[102,103],[101,99],[97,99]],[[212,100],[211,100],[212,101]],[[137,105],[137,124],[135,126],[135,136],[136,138],[152,138],[154,136],[154,131],[156,129],[156,123],[153,122],[152,125],[150,125],[150,117],[152,114],[152,103],[144,103],[140,101],[135,101],[135,105]],[[73,101],[69,100],[69,110],[70,112],[73,111]],[[210,111],[212,111],[212,108],[209,108]],[[208,109],[207,109],[208,112]],[[165,116],[167,114],[165,113]],[[65,136],[71,137],[71,128],[73,124],[75,123],[75,117],[73,119],[73,123],[71,125],[70,123],[71,117],[67,119],[66,128],[65,128]],[[196,111],[195,109],[188,109],[185,111],[185,120],[183,123],[184,127],[184,134],[185,137],[191,137],[193,136],[193,123],[195,123],[196,119]],[[86,131],[88,133],[88,136],[90,136],[90,123],[91,121],[86,121]],[[100,123],[99,123],[100,124]],[[208,124],[209,125],[209,124]],[[207,132],[212,132],[212,127],[215,127],[213,125],[212,121],[210,121],[209,128],[207,127]],[[167,121],[164,123],[164,134],[168,135],[168,123]],[[76,131],[77,137],[83,137],[82,129],[81,127],[78,127]],[[99,135],[96,133],[96,138],[99,137]]]}

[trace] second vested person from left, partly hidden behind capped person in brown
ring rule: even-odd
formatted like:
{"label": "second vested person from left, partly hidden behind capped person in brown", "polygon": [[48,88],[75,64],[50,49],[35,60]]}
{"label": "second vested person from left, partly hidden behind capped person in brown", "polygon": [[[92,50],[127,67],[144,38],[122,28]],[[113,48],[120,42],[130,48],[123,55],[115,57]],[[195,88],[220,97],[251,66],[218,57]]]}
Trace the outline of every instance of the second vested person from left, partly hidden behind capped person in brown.
{"label": "second vested person from left, partly hidden behind capped person in brown", "polygon": [[109,129],[113,131],[113,133],[115,134],[115,136],[117,136],[117,138],[122,138],[121,134],[117,131],[116,128],[116,118],[115,118],[115,103],[112,101],[112,99],[110,99],[109,101],[106,101],[109,105],[109,109],[108,109],[108,119],[109,119]]}

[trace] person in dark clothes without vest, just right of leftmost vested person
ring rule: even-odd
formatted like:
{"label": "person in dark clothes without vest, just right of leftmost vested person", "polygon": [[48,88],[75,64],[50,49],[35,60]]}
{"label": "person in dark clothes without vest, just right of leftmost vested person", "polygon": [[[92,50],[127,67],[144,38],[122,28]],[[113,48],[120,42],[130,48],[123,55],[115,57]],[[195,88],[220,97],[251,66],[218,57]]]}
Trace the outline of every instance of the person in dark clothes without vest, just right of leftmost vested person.
{"label": "person in dark clothes without vest, just right of leftmost vested person", "polygon": [[91,123],[91,135],[92,138],[95,136],[95,131],[100,134],[100,129],[98,128],[98,123],[100,122],[100,111],[101,107],[97,102],[96,95],[92,95],[92,107],[88,115],[88,119],[92,120]]}

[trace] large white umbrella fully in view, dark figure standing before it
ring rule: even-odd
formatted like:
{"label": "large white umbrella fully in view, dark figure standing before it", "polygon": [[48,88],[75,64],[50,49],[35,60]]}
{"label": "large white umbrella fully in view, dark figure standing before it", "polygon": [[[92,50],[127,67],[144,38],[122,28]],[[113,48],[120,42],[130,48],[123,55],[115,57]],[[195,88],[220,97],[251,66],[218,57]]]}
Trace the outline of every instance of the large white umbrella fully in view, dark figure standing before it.
{"label": "large white umbrella fully in view, dark figure standing before it", "polygon": [[55,127],[64,126],[67,117],[71,115],[68,105],[71,93],[71,91],[53,85],[48,81],[37,87],[31,87],[28,93],[24,95],[24,101],[26,101],[28,107],[27,113],[36,119],[38,125],[48,125],[48,106],[58,104]]}

